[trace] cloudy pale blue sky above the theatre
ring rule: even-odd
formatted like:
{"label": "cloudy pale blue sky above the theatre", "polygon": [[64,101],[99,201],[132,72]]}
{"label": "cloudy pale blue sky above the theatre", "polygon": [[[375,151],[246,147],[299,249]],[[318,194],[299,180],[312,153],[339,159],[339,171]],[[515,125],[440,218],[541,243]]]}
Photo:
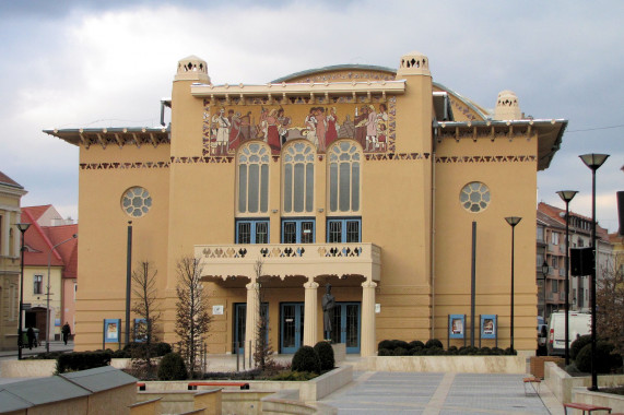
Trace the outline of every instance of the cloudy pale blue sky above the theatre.
{"label": "cloudy pale blue sky above the theatre", "polygon": [[433,80],[485,108],[511,90],[535,119],[569,120],[538,174],[537,201],[617,232],[624,190],[624,2],[570,1],[8,1],[0,0],[0,170],[22,205],[78,212],[79,149],[44,129],[154,127],[178,60],[196,55],[213,84],[260,83],[331,64],[398,68],[417,50]]}

